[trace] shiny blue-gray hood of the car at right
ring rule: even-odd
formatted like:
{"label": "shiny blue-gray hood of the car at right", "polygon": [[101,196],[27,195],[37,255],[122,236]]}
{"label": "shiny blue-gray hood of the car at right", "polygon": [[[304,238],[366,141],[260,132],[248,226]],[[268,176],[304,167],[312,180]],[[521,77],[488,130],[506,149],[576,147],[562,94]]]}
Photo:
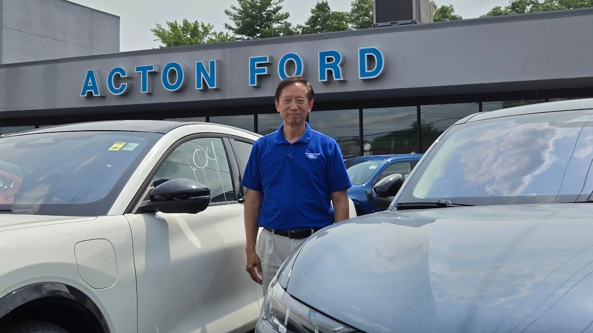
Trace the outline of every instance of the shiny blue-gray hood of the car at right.
{"label": "shiny blue-gray hood of the car at right", "polygon": [[581,332],[592,245],[588,203],[380,212],[315,233],[286,290],[366,332]]}

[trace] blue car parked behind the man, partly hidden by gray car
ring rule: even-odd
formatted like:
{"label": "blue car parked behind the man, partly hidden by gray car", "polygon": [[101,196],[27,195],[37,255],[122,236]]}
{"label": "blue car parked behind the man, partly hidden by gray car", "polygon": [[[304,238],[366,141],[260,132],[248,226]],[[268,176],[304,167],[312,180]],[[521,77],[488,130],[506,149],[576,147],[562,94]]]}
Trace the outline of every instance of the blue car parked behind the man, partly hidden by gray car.
{"label": "blue car parked behind the man, partly hidden by gray car", "polygon": [[410,174],[420,153],[359,156],[346,159],[346,171],[352,182],[348,197],[354,202],[358,216],[385,210],[393,197],[378,197],[372,187],[392,174],[401,174],[404,179]]}

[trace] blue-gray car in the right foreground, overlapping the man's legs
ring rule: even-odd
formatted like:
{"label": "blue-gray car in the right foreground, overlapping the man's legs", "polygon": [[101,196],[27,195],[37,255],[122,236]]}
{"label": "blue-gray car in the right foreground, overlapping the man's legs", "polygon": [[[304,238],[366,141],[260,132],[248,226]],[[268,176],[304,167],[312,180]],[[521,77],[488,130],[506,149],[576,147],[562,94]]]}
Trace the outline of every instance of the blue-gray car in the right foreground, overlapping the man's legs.
{"label": "blue-gray car in the right foreground, overlapping the man's legs", "polygon": [[457,121],[292,253],[256,331],[593,332],[592,161],[593,99]]}

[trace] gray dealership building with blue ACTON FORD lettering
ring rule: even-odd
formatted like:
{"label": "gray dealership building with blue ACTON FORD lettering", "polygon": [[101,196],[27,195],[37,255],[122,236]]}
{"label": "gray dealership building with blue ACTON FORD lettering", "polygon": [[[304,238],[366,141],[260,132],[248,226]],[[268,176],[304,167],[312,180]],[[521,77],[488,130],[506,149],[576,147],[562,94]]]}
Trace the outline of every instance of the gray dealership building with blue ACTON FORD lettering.
{"label": "gray dealership building with blue ACTON FORD lettering", "polygon": [[276,85],[305,75],[311,127],[349,158],[426,151],[472,113],[593,97],[593,8],[438,23],[412,8],[363,30],[119,52],[115,15],[0,0],[0,134],[118,119],[266,134]]}

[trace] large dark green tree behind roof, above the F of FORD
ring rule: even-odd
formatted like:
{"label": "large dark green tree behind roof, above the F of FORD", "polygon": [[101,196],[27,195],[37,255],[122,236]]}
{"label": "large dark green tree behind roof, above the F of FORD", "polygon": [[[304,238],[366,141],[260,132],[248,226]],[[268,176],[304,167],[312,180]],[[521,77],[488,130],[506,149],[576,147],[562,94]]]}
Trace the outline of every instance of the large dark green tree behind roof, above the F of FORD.
{"label": "large dark green tree behind roof, above the F of FORD", "polygon": [[291,14],[280,12],[283,0],[237,0],[238,7],[231,5],[224,13],[235,25],[224,27],[237,39],[260,39],[295,34],[288,22]]}

